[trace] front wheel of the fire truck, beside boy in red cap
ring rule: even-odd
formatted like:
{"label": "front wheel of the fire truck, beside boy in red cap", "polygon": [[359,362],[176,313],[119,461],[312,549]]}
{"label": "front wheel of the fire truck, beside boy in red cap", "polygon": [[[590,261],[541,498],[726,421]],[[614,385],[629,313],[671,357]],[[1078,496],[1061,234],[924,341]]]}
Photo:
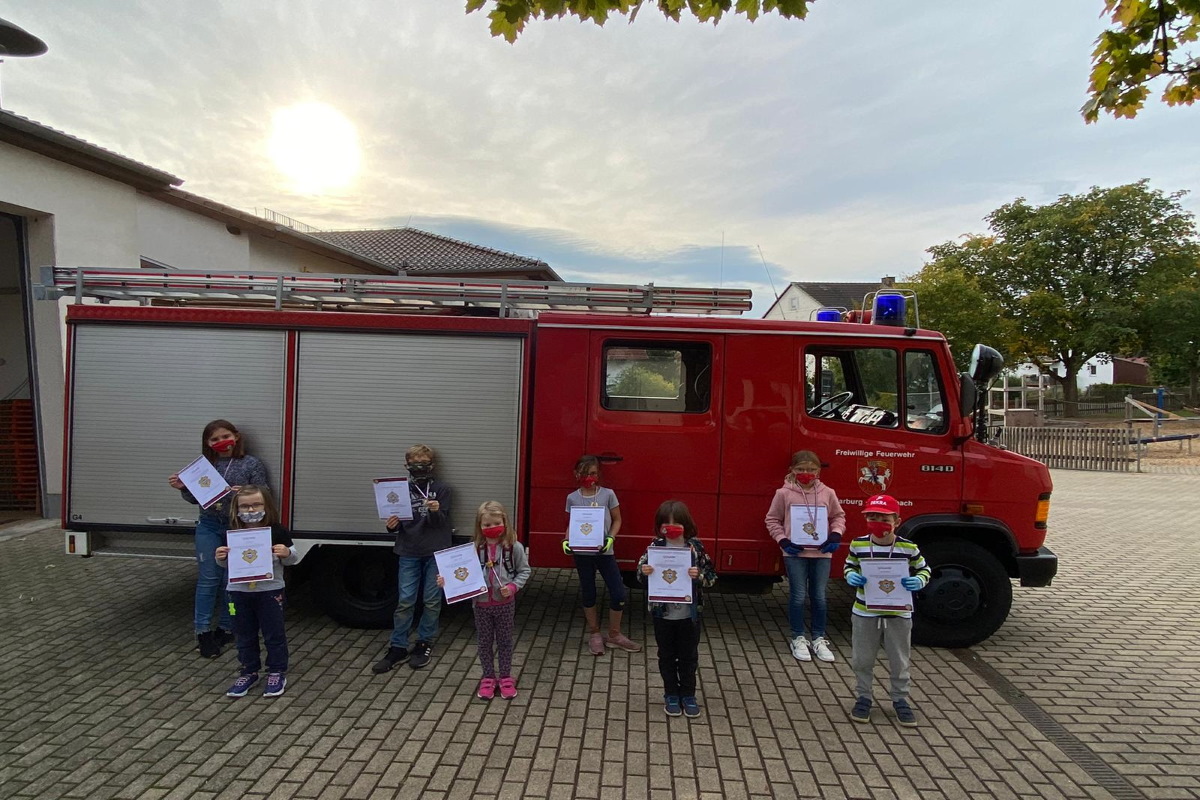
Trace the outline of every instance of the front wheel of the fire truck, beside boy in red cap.
{"label": "front wheel of the fire truck, beside boy in red cap", "polygon": [[932,576],[917,593],[912,640],[967,648],[995,633],[1008,618],[1013,584],[992,553],[959,539],[920,543]]}

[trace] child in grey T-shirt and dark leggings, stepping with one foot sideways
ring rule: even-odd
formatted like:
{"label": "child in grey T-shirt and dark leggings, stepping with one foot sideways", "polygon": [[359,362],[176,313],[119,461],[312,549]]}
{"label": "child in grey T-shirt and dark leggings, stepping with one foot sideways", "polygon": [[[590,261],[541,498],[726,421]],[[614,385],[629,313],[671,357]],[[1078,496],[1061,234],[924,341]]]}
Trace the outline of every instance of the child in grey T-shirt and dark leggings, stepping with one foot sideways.
{"label": "child in grey T-shirt and dark leggings, stepping with one foot sideways", "polygon": [[[575,570],[580,573],[583,619],[588,626],[588,649],[594,656],[602,655],[605,646],[637,652],[642,645],[620,632],[620,616],[628,595],[625,584],[620,579],[617,557],[612,553],[617,531],[620,530],[620,504],[612,489],[600,486],[600,459],[595,456],[582,456],[575,463],[575,480],[580,488],[566,495],[566,513],[570,515],[571,509],[581,506],[604,509],[604,541],[596,552],[572,552],[570,534],[563,542],[563,552],[575,559]],[[605,585],[608,587],[607,637],[600,633],[600,619],[596,614],[596,572],[604,577]]]}

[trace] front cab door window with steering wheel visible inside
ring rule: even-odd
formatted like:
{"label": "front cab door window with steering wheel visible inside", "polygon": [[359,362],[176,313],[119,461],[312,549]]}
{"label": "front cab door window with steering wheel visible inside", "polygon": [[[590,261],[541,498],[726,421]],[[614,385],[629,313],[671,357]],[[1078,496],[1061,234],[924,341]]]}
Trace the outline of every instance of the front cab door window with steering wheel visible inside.
{"label": "front cab door window with steering wheel visible inside", "polygon": [[899,426],[896,351],[810,348],[804,354],[809,416],[884,428]]}

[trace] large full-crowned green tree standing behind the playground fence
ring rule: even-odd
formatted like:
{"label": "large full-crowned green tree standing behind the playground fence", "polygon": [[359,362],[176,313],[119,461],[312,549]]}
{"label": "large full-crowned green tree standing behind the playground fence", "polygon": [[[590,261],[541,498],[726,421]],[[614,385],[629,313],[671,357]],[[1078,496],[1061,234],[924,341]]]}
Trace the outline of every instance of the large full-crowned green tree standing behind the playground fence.
{"label": "large full-crowned green tree standing behind the playground fence", "polygon": [[949,324],[966,326],[973,306],[1012,360],[1038,365],[1073,402],[1084,363],[1141,349],[1150,303],[1194,269],[1195,224],[1181,197],[1139,181],[1042,206],[1024,198],[1003,205],[986,217],[989,236],[930,248],[914,279],[937,289],[934,308],[922,303],[923,324],[929,314],[938,327],[938,293],[961,287],[965,300],[947,306]]}

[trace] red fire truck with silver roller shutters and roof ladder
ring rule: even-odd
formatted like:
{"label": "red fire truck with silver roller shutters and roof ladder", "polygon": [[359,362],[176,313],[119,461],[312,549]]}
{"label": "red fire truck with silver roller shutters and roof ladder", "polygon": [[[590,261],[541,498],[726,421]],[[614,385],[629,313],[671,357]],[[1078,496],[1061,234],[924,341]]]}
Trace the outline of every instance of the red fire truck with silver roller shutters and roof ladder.
{"label": "red fire truck with silver roller shutters and roof ladder", "polygon": [[791,453],[814,450],[851,535],[865,498],[900,499],[901,533],[932,565],[917,600],[925,644],[986,638],[1012,579],[1048,585],[1057,569],[1046,468],[985,441],[998,356],[977,348],[959,375],[944,337],[907,312],[751,320],[731,315],[745,290],[80,267],[46,267],[40,293],[76,299],[68,553],[193,558],[196,507],[166,479],[224,417],[266,463],[301,569],[348,625],[390,620],[395,560],[372,479],[414,443],[456,487],[457,530],[498,499],[535,566],[570,566],[564,497],[594,453],[620,498],[623,567],[658,505],[679,499],[721,575],[770,581],[782,564],[766,510]]}

